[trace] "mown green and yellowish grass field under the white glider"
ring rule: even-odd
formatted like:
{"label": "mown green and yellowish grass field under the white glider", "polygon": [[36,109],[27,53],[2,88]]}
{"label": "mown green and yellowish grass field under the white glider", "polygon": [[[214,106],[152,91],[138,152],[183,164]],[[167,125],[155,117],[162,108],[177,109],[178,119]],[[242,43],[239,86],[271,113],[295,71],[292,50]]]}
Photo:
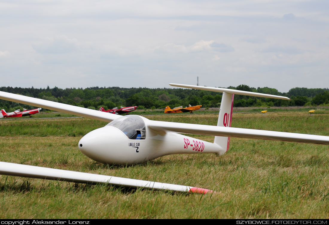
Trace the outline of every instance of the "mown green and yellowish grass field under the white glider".
{"label": "mown green and yellowish grass field under the white glider", "polygon": [[[234,113],[232,127],[328,136],[327,112]],[[147,118],[217,123],[215,114]],[[104,125],[85,118],[2,119],[0,161],[197,186],[217,193],[0,176],[0,218],[329,218],[328,146],[231,138],[230,150],[222,156],[168,155],[140,165],[113,166],[88,159],[77,147],[84,134]]]}

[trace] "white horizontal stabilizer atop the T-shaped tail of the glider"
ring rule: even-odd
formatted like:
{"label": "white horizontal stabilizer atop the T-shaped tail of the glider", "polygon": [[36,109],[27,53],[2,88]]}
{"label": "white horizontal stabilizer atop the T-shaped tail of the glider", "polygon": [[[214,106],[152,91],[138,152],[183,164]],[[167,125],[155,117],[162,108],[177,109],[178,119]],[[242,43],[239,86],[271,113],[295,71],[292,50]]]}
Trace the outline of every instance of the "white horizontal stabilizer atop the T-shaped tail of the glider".
{"label": "white horizontal stabilizer atop the T-shaped tail of the glider", "polygon": [[212,88],[212,87],[186,85],[186,84],[169,84],[169,85],[175,86],[175,87],[181,87],[181,88],[191,88],[191,89],[213,91],[213,92],[220,92],[220,93],[226,92],[226,93],[235,94],[235,95],[247,95],[247,96],[254,96],[254,97],[277,98],[277,99],[290,100],[290,98],[284,97],[284,96],[268,95],[268,94],[249,92],[249,91],[240,91],[240,90],[227,89],[227,88]]}

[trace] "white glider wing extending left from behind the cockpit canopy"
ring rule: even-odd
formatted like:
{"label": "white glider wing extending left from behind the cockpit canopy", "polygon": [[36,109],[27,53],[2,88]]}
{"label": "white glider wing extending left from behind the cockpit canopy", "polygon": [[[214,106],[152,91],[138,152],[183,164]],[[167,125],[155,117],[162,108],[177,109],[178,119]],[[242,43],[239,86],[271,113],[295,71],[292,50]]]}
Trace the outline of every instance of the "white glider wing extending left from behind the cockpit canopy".
{"label": "white glider wing extending left from behind the cockpit canopy", "polygon": [[120,115],[115,115],[112,113],[101,112],[93,109],[86,109],[79,106],[67,105],[67,104],[43,100],[39,98],[32,98],[23,95],[11,94],[2,91],[0,91],[0,99],[14,101],[26,105],[38,106],[40,108],[69,113],[76,116],[83,116],[86,118],[100,120],[104,122],[111,122],[112,120],[121,117]]}

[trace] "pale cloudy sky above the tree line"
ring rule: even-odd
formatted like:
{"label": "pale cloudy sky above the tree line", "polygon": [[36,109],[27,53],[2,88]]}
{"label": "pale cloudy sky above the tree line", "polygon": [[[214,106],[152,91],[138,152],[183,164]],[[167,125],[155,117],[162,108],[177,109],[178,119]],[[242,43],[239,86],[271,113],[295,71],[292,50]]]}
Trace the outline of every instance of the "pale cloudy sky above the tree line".
{"label": "pale cloudy sky above the tree line", "polygon": [[329,1],[0,0],[0,86],[329,88]]}

